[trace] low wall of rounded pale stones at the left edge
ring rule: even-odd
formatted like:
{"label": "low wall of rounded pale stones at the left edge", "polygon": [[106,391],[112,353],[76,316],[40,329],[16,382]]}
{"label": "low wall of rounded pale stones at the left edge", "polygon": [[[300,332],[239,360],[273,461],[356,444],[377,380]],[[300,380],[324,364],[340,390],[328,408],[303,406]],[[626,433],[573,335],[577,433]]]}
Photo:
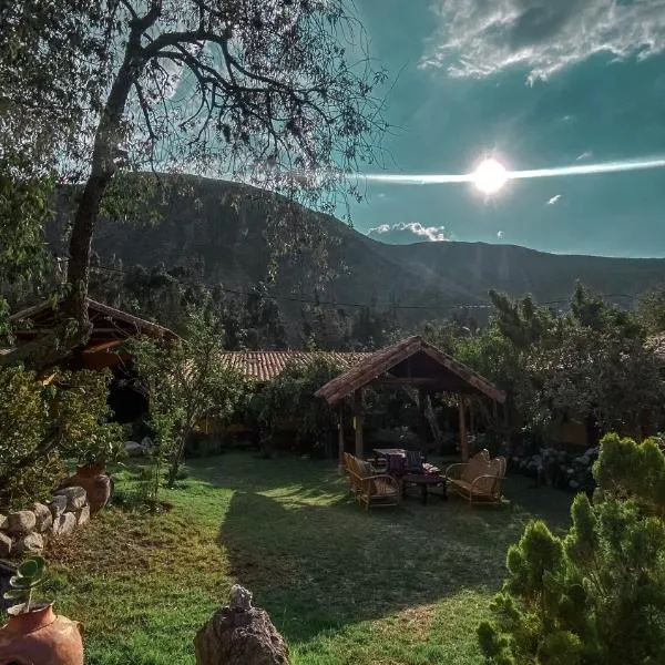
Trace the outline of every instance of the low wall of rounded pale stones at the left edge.
{"label": "low wall of rounded pale stones at the left edge", "polygon": [[0,514],[0,559],[40,554],[52,536],[69,535],[90,520],[90,501],[81,487],[58,490],[47,503]]}

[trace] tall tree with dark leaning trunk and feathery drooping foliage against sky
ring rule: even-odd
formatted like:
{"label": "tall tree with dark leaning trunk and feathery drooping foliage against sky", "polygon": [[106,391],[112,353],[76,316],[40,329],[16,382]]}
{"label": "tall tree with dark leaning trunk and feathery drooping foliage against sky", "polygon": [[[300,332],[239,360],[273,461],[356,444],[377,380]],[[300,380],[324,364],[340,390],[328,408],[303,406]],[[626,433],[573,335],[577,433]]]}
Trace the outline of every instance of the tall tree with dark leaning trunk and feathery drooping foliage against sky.
{"label": "tall tree with dark leaning trunk and feathery drooping foliage against sky", "polygon": [[[347,174],[376,156],[383,74],[345,0],[24,0],[0,18],[0,129],[43,136],[40,164],[84,182],[71,320],[51,346],[90,332],[91,238],[123,171],[225,176],[326,207],[327,192],[358,194]],[[280,217],[272,233],[287,249],[301,239],[293,225]],[[47,350],[30,349],[42,361]]]}

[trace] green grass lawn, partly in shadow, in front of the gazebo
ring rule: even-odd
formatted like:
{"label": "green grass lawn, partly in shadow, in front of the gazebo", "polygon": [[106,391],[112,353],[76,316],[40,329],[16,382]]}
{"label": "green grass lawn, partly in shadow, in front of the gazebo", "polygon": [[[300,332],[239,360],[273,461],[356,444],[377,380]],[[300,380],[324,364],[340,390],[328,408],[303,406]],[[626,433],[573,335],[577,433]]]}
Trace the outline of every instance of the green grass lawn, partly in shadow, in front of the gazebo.
{"label": "green grass lawn, partly in shadow, in front of the gazebo", "polygon": [[50,553],[57,607],[83,622],[88,664],[194,663],[195,632],[235,582],[296,664],[481,663],[475,625],[526,511],[560,528],[570,503],[511,478],[500,509],[432,497],[366,513],[330,462],[226,454],[187,471],[164,492],[171,512],[106,510]]}

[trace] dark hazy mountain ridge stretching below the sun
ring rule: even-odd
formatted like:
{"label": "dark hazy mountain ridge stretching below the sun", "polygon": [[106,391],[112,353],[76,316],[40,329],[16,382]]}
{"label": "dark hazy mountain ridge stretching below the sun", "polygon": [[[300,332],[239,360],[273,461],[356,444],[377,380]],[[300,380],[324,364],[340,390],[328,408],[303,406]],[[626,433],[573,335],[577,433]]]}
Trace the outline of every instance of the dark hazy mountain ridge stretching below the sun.
{"label": "dark hazy mountain ridge stretching below the sun", "polygon": [[[553,255],[482,243],[387,245],[247,185],[180,176],[171,185],[147,196],[147,221],[100,222],[94,249],[102,265],[121,259],[125,270],[190,266],[202,283],[232,293],[267,283],[290,318],[304,300],[318,300],[340,307],[392,304],[415,323],[460,305],[482,306],[490,288],[563,304],[577,279],[630,306],[636,295],[665,283],[665,259]],[[66,215],[59,208],[50,239],[62,253]]]}

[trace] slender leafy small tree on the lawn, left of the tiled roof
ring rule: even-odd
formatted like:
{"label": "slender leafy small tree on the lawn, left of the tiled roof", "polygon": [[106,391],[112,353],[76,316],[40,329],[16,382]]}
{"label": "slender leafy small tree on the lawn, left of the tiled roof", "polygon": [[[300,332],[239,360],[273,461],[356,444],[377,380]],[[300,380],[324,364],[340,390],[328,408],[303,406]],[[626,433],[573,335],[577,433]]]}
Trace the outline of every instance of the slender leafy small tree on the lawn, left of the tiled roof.
{"label": "slender leafy small tree on the lawn, left of the tiled roof", "polygon": [[246,393],[245,382],[224,364],[218,321],[205,308],[190,308],[185,339],[140,340],[131,349],[150,393],[150,419],[156,433],[156,494],[162,463],[168,463],[167,483],[173,487],[196,427],[206,418],[223,419],[232,413]]}

